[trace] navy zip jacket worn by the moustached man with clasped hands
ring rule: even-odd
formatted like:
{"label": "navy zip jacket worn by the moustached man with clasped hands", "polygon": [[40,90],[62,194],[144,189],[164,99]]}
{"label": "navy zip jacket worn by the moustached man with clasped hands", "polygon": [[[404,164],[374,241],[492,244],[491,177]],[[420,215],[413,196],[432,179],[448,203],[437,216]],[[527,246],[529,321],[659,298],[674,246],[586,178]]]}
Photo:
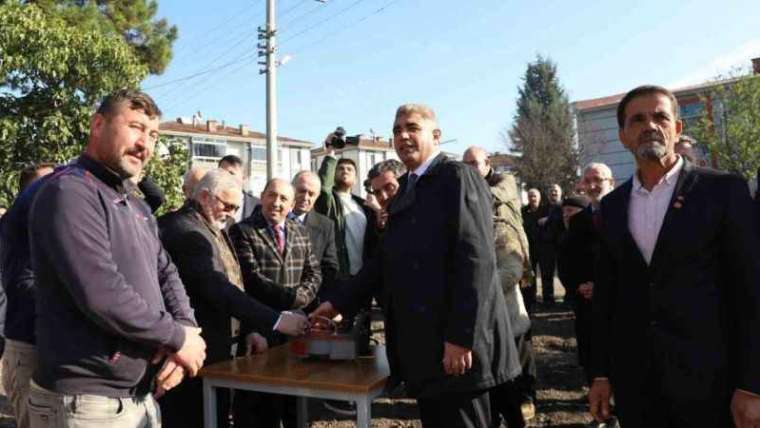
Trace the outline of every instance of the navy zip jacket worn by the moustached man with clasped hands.
{"label": "navy zip jacket worn by the moustached man with clasped hands", "polygon": [[148,392],[159,347],[178,350],[196,326],[155,218],[130,183],[87,155],[54,173],[29,214],[39,366],[64,394]]}

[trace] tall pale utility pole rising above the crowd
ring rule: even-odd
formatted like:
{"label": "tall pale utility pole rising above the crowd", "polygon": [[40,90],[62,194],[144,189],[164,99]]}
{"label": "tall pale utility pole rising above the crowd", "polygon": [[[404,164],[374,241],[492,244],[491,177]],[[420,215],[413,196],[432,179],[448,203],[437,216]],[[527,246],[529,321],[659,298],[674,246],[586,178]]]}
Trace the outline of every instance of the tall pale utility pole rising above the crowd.
{"label": "tall pale utility pole rising above the crowd", "polygon": [[275,59],[275,0],[267,0],[267,181],[277,165],[277,63]]}

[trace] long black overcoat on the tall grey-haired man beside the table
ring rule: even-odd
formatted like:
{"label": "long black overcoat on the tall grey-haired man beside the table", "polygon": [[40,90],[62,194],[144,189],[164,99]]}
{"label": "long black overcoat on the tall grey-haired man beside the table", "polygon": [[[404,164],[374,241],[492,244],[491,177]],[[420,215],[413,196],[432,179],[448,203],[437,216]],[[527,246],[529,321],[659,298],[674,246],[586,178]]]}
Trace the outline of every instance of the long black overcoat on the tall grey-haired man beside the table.
{"label": "long black overcoat on the tall grey-haired man beside the table", "polygon": [[[515,377],[520,364],[498,285],[485,180],[438,155],[406,188],[404,176],[380,250],[332,303],[346,312],[373,291],[383,296],[392,376],[413,396],[481,390]],[[472,349],[465,375],[444,373],[446,341]]]}

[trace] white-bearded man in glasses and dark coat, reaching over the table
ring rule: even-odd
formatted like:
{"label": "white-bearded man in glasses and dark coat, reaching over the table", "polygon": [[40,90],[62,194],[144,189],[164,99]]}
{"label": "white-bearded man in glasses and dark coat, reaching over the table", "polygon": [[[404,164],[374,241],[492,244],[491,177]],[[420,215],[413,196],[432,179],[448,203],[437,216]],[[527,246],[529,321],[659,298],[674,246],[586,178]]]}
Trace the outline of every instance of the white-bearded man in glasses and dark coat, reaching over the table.
{"label": "white-bearded man in glasses and dark coat, reaching over the table", "polygon": [[[195,188],[190,203],[162,222],[161,239],[185,284],[195,318],[207,344],[206,363],[228,360],[240,334],[238,320],[256,327],[245,336],[246,354],[267,349],[272,331],[297,335],[307,320],[279,312],[247,295],[232,243],[224,231],[241,200],[239,181],[222,169],[211,170]],[[217,423],[229,423],[229,392],[217,392]],[[203,426],[203,384],[186,381],[161,400],[164,427]]]}

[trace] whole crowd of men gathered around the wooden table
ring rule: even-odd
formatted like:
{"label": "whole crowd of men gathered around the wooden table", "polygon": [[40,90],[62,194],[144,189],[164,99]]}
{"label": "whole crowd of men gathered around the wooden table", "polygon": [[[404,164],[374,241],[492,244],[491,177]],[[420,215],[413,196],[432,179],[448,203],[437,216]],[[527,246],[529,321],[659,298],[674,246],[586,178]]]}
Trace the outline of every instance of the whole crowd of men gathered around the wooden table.
{"label": "whole crowd of men gathered around the wooden table", "polygon": [[[760,427],[756,211],[743,180],[676,151],[666,89],[636,88],[618,108],[631,179],[615,188],[591,163],[574,193],[549,186],[542,204],[529,189],[525,207],[485,150],[447,158],[433,110],[405,104],[400,161],[373,166],[366,200],[328,137],[318,173],[272,179],[260,198],[235,156],[194,166],[182,207],[156,219],[163,195],[142,170],[160,116],[147,94],[117,91],[78,159],[21,174],[0,228],[2,381],[19,427],[200,427],[204,365],[373,302],[388,387],[417,399],[423,426],[523,427],[537,279],[555,304],[555,272],[600,426]],[[296,423],[289,397],[217,400],[222,427]]]}

